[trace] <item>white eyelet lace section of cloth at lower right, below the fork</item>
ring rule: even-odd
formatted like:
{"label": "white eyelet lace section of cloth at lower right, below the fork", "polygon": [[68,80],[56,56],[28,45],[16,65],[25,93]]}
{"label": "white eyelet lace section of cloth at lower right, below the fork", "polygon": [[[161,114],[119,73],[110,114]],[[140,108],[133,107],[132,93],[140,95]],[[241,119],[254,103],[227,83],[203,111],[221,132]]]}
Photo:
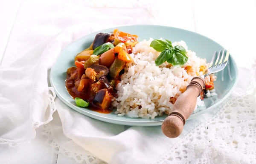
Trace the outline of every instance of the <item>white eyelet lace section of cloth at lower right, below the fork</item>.
{"label": "white eyelet lace section of cloth at lower right, below the fork", "polygon": [[[255,98],[249,96],[229,98],[214,117],[187,133],[183,139],[177,141],[166,153],[157,158],[154,164],[173,162],[175,164],[203,164],[213,161],[233,163],[234,158],[230,157],[232,154],[239,154],[235,161],[242,163],[255,161],[256,150],[253,147],[256,143],[255,100]],[[230,107],[232,107],[232,113],[234,114],[231,114]],[[248,113],[250,113],[250,116],[248,116]],[[235,127],[232,126],[232,123],[239,125]],[[243,133],[244,130],[247,133],[250,132],[250,134]],[[221,131],[225,131],[225,133]],[[250,152],[247,150],[250,150]],[[248,156],[250,158],[245,160],[247,155],[251,156]]]}

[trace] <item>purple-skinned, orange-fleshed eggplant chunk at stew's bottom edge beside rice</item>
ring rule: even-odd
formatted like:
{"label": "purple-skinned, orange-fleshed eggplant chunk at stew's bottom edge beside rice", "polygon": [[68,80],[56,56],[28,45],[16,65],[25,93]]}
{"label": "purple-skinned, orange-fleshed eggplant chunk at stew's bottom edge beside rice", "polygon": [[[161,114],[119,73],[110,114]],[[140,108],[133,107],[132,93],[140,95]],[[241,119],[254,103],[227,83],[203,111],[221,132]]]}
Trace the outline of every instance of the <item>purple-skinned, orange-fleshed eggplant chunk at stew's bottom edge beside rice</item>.
{"label": "purple-skinned, orange-fleshed eggplant chunk at stew's bottom edge beside rice", "polygon": [[108,90],[99,90],[93,99],[93,103],[102,109],[108,109],[111,105],[111,96],[108,94]]}

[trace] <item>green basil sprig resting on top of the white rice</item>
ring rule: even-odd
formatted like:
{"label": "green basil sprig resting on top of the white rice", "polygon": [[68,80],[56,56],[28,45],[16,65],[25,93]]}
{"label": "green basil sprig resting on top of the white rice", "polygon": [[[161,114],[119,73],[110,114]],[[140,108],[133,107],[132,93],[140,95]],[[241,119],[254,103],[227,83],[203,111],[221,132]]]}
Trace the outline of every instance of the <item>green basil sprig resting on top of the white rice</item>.
{"label": "green basil sprig resting on top of the white rice", "polygon": [[167,61],[173,66],[180,67],[188,61],[186,49],[181,45],[172,47],[172,42],[169,40],[153,40],[150,46],[156,51],[161,52],[155,60],[157,66]]}

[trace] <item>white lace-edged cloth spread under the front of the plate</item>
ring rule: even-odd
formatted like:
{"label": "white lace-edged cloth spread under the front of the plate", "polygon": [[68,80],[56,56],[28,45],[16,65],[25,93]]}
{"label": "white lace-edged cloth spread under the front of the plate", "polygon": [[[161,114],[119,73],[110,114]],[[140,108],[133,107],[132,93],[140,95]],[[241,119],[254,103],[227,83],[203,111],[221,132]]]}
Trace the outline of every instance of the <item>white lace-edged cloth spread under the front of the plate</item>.
{"label": "white lace-edged cloth spread under the front of the plate", "polygon": [[[249,124],[254,122],[251,119],[255,115],[247,116],[247,108],[241,109],[246,105],[244,97],[241,95],[246,93],[251,77],[250,71],[241,68],[239,73],[244,78],[239,78],[238,85],[227,103],[215,108],[210,113],[187,121],[183,132],[176,139],[169,139],[164,136],[160,126],[126,127],[91,119],[67,107],[58,98],[55,100],[55,105],[61,122],[47,124],[45,135],[48,136],[49,144],[57,148],[58,153],[73,157],[78,162],[86,161],[84,163],[103,163],[100,159],[110,164],[155,164],[157,162],[182,164],[186,163],[188,159],[194,163],[201,160],[213,163],[239,163],[240,160],[247,157],[246,154],[239,154],[239,151],[248,148],[246,142],[241,140],[240,135],[243,134],[245,137],[247,135],[247,141],[253,141],[255,136],[249,137],[250,129],[239,129],[238,131],[221,129],[223,127],[228,129],[239,127],[238,122],[241,118]],[[241,106],[232,106],[237,99],[241,99]],[[255,98],[248,99],[248,101],[251,103],[248,111],[256,112]],[[231,114],[230,110],[233,110]],[[240,112],[240,116],[237,115],[237,112]],[[227,116],[221,116],[224,113]],[[58,118],[58,115],[55,115],[54,118]],[[233,119],[232,124],[227,118]],[[254,127],[256,124],[252,123],[252,125],[253,129],[256,130]],[[228,136],[229,133],[230,136]],[[221,140],[223,136],[227,139],[227,141],[223,139],[225,143],[222,143],[224,141]],[[67,140],[66,137],[70,140]],[[218,141],[219,139],[222,142]],[[63,140],[65,141],[63,142]],[[239,147],[235,148],[238,143]],[[188,147],[190,148],[188,149]],[[250,151],[256,153],[253,149],[254,147],[250,147]],[[236,155],[239,156],[232,154],[234,153],[233,150],[236,150]],[[197,151],[202,154],[197,153]],[[203,153],[204,151],[207,152]],[[93,156],[97,158],[93,158]],[[256,160],[255,157],[252,159],[253,161]],[[245,163],[249,161],[245,160]]]}

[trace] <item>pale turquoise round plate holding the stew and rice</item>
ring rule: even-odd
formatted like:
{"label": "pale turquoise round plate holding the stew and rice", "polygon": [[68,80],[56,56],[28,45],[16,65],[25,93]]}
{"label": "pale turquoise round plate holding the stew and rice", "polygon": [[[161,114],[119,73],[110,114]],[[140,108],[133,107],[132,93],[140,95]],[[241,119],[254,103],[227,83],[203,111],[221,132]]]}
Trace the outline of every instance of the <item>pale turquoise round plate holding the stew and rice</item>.
{"label": "pale turquoise round plate holding the stew and rice", "polygon": [[[192,31],[183,30],[180,28],[159,26],[159,25],[131,25],[116,27],[121,31],[128,32],[130,34],[136,34],[139,36],[139,41],[144,39],[148,40],[150,38],[168,39],[172,42],[183,40],[186,42],[188,49],[195,51],[198,57],[206,58],[209,62],[212,58],[214,51],[223,50],[224,47],[219,45],[217,42],[204,37],[203,35],[197,34]],[[74,57],[79,52],[88,48],[96,34],[99,32],[112,33],[114,28],[109,28],[101,31],[94,32],[79,40],[72,42],[68,45],[60,54],[55,65],[51,69],[50,82],[52,87],[55,88],[55,93],[66,105],[72,109],[82,113],[86,116],[98,119],[104,122],[110,122],[113,124],[122,124],[130,126],[156,126],[161,125],[163,120],[166,118],[164,116],[158,116],[155,119],[140,119],[140,118],[129,118],[127,116],[117,116],[114,112],[109,114],[97,113],[93,110],[86,108],[77,107],[74,99],[72,99],[65,88],[65,79],[67,68],[74,66]],[[234,59],[229,58],[229,63],[224,71],[215,74],[217,80],[215,81],[215,90],[218,94],[217,96],[205,98],[204,103],[206,109],[202,109],[197,113],[192,114],[189,119],[200,116],[201,114],[213,109],[217,105],[226,99],[237,82],[238,69]]]}

